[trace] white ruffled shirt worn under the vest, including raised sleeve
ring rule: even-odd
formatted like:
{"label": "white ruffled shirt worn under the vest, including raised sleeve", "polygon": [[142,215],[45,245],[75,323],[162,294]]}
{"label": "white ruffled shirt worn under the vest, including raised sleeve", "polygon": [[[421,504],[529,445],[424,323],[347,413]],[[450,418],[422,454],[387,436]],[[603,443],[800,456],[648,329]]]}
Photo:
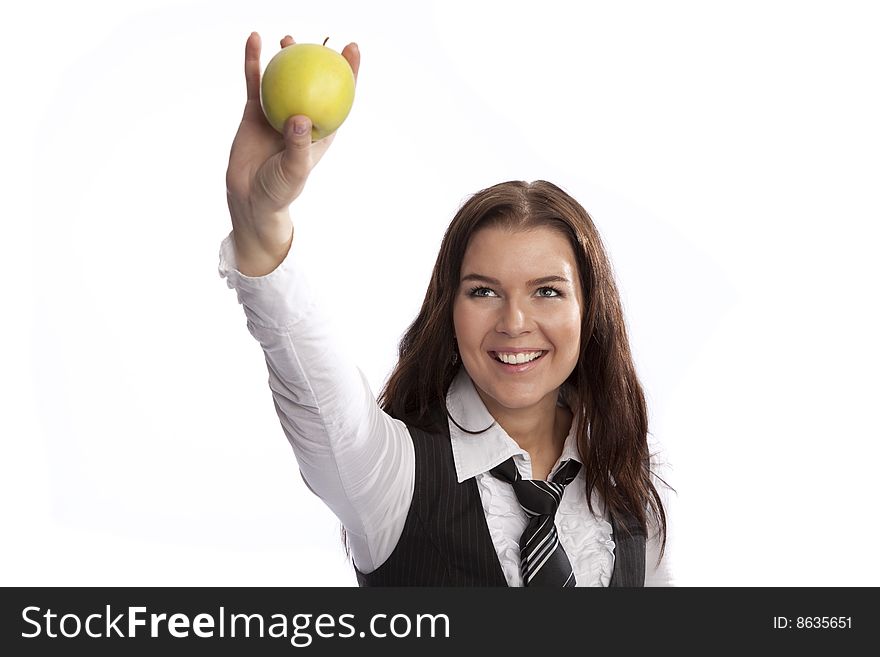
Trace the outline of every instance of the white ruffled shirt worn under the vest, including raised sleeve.
{"label": "white ruffled shirt worn under the vest, including raised sleeve", "polygon": [[[391,556],[412,501],[415,453],[409,430],[382,411],[363,372],[342,353],[342,341],[322,314],[294,248],[265,276],[245,276],[236,262],[230,233],[220,245],[218,271],[236,290],[248,330],[263,348],[282,429],[306,485],[340,519],[355,564],[370,573]],[[493,422],[463,367],[446,402],[467,429],[484,429]],[[566,459],[580,461],[576,424],[577,418],[551,476]],[[449,434],[458,481],[476,478],[504,576],[509,586],[522,586],[519,538],[526,526],[525,512],[513,488],[488,471],[514,456],[520,475],[530,479],[529,454],[497,423],[471,435],[450,422]],[[652,445],[652,471],[666,479],[666,464],[653,454],[655,449]],[[583,477],[581,470],[565,488],[556,514],[559,540],[578,586],[607,586],[614,569],[611,524],[595,495],[596,515],[590,513]],[[668,508],[669,489],[656,477],[654,485]],[[659,541],[656,531],[649,533],[645,585],[670,586],[668,545],[658,565]]]}

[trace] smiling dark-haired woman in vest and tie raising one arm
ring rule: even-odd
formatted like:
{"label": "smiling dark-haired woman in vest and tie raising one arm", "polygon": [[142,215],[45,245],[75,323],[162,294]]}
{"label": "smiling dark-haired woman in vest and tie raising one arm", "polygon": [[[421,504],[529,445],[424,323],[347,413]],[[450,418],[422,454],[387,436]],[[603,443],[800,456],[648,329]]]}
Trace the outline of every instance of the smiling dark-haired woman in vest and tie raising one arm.
{"label": "smiling dark-haired woman in vest and tie raising one arm", "polygon": [[[342,54],[357,77],[357,46]],[[283,136],[269,126],[259,55],[254,33],[220,274],[263,347],[303,479],[342,521],[359,583],[671,583],[665,485],[586,211],[545,181],[472,196],[377,404],[292,246],[288,207],[334,135],[312,142],[303,116]]]}

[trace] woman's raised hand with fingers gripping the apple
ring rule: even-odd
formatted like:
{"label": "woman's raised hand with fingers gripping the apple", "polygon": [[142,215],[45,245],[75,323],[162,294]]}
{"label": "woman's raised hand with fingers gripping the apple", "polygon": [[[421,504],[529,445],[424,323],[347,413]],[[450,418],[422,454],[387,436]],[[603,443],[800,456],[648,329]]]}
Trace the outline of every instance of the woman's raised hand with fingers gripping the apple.
{"label": "woman's raised hand with fingers gripping the apple", "polygon": [[[241,125],[232,142],[226,169],[226,194],[233,227],[259,235],[261,219],[277,217],[287,211],[305,187],[312,169],[333,142],[336,133],[312,142],[311,120],[307,116],[290,117],[279,134],[263,114],[260,103],[260,35],[248,37],[244,55],[247,103]],[[281,47],[294,43],[293,37],[281,39]],[[342,50],[357,83],[360,52],[356,43]],[[294,123],[303,122],[303,134],[294,133]],[[236,226],[238,224],[238,226]]]}

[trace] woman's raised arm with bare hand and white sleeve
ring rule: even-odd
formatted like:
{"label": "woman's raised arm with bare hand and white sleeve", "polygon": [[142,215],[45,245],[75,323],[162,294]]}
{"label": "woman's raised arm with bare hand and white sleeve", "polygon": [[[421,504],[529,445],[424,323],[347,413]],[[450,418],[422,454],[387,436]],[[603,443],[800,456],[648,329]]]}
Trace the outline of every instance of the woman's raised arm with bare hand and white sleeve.
{"label": "woman's raised arm with bare hand and white sleeve", "polygon": [[[287,36],[281,47],[292,43]],[[342,55],[357,76],[357,46],[349,44]],[[306,116],[288,119],[283,136],[268,123],[257,33],[245,48],[245,77],[247,104],[226,173],[232,232],[221,245],[220,274],[237,291],[263,349],[275,408],[303,479],[345,525],[358,568],[370,572],[403,529],[414,480],[412,441],[403,423],[381,411],[322,313],[292,246],[288,210],[336,133],[313,142]]]}

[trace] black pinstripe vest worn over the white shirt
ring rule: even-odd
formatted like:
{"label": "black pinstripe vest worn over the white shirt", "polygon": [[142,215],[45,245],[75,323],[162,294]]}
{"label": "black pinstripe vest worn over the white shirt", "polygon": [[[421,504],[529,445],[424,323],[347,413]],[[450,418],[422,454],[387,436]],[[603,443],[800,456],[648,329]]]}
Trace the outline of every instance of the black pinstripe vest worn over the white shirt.
{"label": "black pinstripe vest worn over the white shirt", "polygon": [[[507,586],[474,477],[458,483],[449,425],[428,433],[407,425],[415,446],[413,499],[391,556],[360,586]],[[635,522],[612,520],[614,571],[609,586],[644,586],[645,536]]]}

